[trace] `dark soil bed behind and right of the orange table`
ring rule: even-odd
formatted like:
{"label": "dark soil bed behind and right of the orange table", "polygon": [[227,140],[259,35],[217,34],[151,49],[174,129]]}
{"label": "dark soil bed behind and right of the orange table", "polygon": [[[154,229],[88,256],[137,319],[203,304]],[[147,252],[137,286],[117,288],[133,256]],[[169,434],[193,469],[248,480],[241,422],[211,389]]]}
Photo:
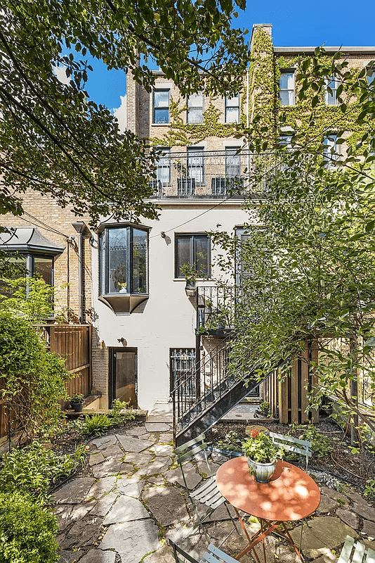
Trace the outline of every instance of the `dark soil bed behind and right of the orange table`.
{"label": "dark soil bed behind and right of the orange table", "polygon": [[[278,424],[270,422],[267,419],[254,420],[254,425],[265,426],[269,431],[277,434],[289,434],[295,438],[301,437],[303,428],[292,430],[291,424]],[[206,441],[209,445],[216,446],[218,440],[225,441],[225,434],[229,431],[235,431],[240,440],[244,440],[246,436],[246,426],[252,424],[242,424],[239,422],[219,422],[213,428],[206,432]],[[375,476],[375,455],[368,450],[362,450],[362,453],[352,454],[350,445],[350,436],[345,435],[343,430],[334,420],[323,418],[315,427],[320,433],[329,438],[329,442],[333,448],[332,452],[324,457],[313,455],[310,458],[309,469],[317,472],[327,472],[331,476],[345,481],[347,483],[364,488],[366,480]],[[237,448],[240,451],[240,447]],[[304,467],[304,466],[303,466]]]}

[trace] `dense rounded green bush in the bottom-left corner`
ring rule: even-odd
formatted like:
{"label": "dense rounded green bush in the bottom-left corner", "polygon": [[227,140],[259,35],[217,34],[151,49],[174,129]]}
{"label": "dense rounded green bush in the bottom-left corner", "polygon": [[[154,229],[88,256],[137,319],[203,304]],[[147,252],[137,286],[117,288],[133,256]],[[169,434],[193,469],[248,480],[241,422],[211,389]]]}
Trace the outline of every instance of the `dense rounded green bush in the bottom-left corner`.
{"label": "dense rounded green bush in the bottom-left corner", "polygon": [[0,561],[55,563],[56,518],[24,493],[0,493]]}

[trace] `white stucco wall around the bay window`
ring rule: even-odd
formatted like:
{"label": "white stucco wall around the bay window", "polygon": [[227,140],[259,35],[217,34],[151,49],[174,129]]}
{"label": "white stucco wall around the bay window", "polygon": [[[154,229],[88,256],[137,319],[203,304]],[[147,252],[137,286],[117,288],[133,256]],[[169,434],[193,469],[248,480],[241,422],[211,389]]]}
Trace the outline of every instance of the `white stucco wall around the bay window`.
{"label": "white stucco wall around the bay window", "polygon": [[[138,404],[150,409],[158,398],[169,396],[169,349],[195,348],[196,310],[185,294],[185,280],[174,279],[175,233],[206,231],[231,232],[246,221],[246,213],[239,205],[222,203],[202,205],[192,202],[178,203],[163,208],[159,221],[143,222],[151,227],[149,236],[149,294],[143,312],[116,315],[105,303],[98,300],[98,250],[93,248],[93,307],[98,315],[94,322],[101,346],[121,346],[124,338],[129,347],[138,348]],[[207,211],[208,210],[208,211]],[[204,213],[207,211],[207,213]],[[204,213],[204,215],[201,215]],[[201,215],[199,217],[199,215]],[[183,224],[185,223],[185,224]],[[178,225],[180,225],[178,227]],[[183,225],[182,225],[183,224]],[[220,227],[217,225],[220,224]],[[166,233],[166,238],[160,236]],[[216,250],[213,248],[211,259]],[[219,272],[212,272],[213,277]],[[205,282],[211,284],[210,282]],[[201,285],[202,282],[198,282]],[[93,381],[103,393],[103,407],[107,406],[107,388],[103,374],[107,366],[103,348],[94,361]],[[100,388],[101,387],[101,388]]]}

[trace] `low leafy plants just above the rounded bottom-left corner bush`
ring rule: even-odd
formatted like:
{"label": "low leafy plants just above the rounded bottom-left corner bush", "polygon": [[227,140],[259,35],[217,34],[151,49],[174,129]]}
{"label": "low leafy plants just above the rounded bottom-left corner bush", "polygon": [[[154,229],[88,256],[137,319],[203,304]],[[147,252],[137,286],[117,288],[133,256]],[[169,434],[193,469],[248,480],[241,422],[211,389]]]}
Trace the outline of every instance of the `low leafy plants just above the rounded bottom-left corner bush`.
{"label": "low leafy plants just above the rounded bottom-left corner bush", "polygon": [[24,448],[13,448],[4,454],[0,464],[0,489],[4,493],[18,491],[46,500],[51,483],[69,476],[83,462],[83,445],[72,455],[58,455],[34,441]]}

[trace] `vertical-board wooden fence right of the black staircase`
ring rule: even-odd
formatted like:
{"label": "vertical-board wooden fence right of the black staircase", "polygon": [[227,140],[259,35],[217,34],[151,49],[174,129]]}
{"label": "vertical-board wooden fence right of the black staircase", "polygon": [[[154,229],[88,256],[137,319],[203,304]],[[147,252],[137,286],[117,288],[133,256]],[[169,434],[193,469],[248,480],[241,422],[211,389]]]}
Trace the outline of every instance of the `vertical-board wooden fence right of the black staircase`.
{"label": "vertical-board wooden fence right of the black staircase", "polygon": [[263,385],[263,398],[268,400],[271,412],[282,424],[305,424],[318,422],[319,412],[305,412],[308,405],[307,393],[317,385],[318,378],[310,362],[317,360],[317,348],[308,343],[301,358],[294,360],[290,373],[279,381],[276,370]]}

